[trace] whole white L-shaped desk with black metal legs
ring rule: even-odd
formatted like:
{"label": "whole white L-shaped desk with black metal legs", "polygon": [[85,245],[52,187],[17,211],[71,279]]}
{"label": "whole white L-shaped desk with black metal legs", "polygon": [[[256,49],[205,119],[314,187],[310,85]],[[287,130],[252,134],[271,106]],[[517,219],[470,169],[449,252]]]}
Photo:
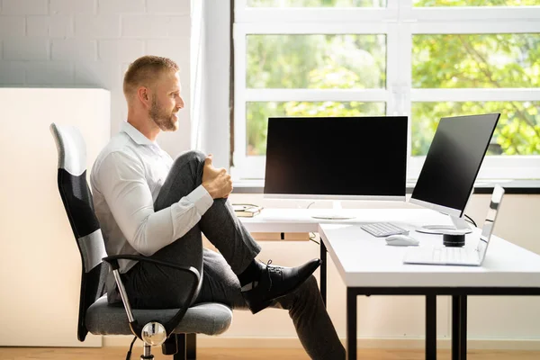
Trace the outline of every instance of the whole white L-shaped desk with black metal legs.
{"label": "whole white L-shaped desk with black metal legs", "polygon": [[[450,224],[449,218],[426,209],[347,210],[352,220],[316,220],[316,210],[265,209],[242,222],[252,232],[320,233],[320,292],[326,302],[327,248],[347,286],[347,359],[356,359],[356,296],[426,295],[426,357],[437,356],[437,295],[452,296],[452,358],[466,358],[467,295],[540,295],[540,256],[501,238],[491,239],[482,266],[404,265],[405,247],[386,246],[359,223],[392,221],[405,229]],[[479,229],[467,235],[474,247]],[[442,245],[442,236],[411,232],[420,246]]]}

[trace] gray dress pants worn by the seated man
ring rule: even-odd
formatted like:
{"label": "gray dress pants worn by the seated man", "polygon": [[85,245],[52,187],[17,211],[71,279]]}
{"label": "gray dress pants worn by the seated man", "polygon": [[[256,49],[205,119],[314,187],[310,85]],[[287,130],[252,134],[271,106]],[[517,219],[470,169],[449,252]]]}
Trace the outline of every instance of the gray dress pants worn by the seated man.
{"label": "gray dress pants worn by the seated man", "polygon": [[[202,184],[204,154],[189,151],[175,159],[156,202],[164,209]],[[202,234],[220,253],[202,247]],[[238,220],[227,199],[215,199],[197,225],[182,238],[163,247],[152,258],[193,266],[202,274],[202,284],[193,303],[220,302],[232,309],[247,310],[237,275],[257,257],[260,247]],[[182,306],[189,275],[166,266],[139,262],[122,275],[133,308],[163,309]],[[289,311],[302,346],[312,359],[342,360],[345,349],[329,318],[315,277],[273,305]]]}

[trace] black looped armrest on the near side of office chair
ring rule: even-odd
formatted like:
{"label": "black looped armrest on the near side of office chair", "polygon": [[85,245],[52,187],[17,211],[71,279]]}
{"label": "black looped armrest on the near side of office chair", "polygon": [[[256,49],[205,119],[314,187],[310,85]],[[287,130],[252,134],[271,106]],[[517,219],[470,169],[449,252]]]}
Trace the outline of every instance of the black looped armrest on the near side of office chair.
{"label": "black looped armrest on the near side of office chair", "polygon": [[157,264],[160,266],[167,266],[174,268],[176,270],[184,271],[190,275],[193,275],[193,285],[189,289],[188,296],[185,299],[184,306],[181,306],[180,309],[176,312],[175,316],[171,320],[168,320],[165,324],[162,324],[166,329],[166,336],[173,333],[175,328],[178,326],[180,321],[184,318],[185,312],[193,302],[193,298],[195,296],[195,292],[197,291],[197,287],[199,286],[199,282],[201,281],[201,275],[199,275],[199,272],[197,269],[195,269],[193,266],[179,266],[176,264],[167,263],[165,261],[156,260],[148,257],[142,257],[139,255],[112,255],[110,257],[103,257],[103,261],[106,261],[112,268],[112,273],[114,274],[114,279],[116,280],[116,285],[118,286],[118,290],[121,294],[121,301],[123,302],[124,308],[126,310],[126,313],[128,315],[128,320],[130,321],[130,329],[131,332],[138,338],[141,338],[142,334],[142,328],[137,320],[133,317],[133,314],[131,312],[130,308],[130,302],[128,299],[128,294],[125,291],[125,288],[123,284],[121,283],[121,277],[119,273],[120,266],[118,264],[118,260],[120,259],[126,259],[126,260],[137,260],[137,261],[143,261],[147,263]]}

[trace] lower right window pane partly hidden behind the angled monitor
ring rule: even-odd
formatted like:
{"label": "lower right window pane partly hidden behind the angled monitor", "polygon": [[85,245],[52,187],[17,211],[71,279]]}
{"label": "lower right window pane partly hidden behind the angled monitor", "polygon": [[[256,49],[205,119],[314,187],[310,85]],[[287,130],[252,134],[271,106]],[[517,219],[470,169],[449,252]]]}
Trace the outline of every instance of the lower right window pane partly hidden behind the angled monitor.
{"label": "lower right window pane partly hidden behind the angled monitor", "polygon": [[540,155],[540,102],[413,103],[413,156],[426,155],[442,117],[500,112],[488,155]]}

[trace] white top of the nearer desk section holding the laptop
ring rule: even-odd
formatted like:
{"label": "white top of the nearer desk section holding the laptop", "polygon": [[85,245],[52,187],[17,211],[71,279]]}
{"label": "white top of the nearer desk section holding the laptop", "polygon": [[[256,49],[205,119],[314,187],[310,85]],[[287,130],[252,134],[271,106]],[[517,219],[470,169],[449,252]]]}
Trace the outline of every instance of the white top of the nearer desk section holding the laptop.
{"label": "white top of the nearer desk section holding the laptop", "polygon": [[[376,211],[378,212],[378,211]],[[373,217],[383,220],[380,214]],[[414,231],[426,224],[449,224],[436,211],[392,209],[385,221],[410,229],[420,247],[442,246],[442,235]],[[540,287],[540,256],[493,236],[482,266],[428,266],[403,264],[407,247],[391,247],[358,224],[320,224],[319,232],[347,286],[429,287]],[[465,238],[476,247],[480,229]]]}

